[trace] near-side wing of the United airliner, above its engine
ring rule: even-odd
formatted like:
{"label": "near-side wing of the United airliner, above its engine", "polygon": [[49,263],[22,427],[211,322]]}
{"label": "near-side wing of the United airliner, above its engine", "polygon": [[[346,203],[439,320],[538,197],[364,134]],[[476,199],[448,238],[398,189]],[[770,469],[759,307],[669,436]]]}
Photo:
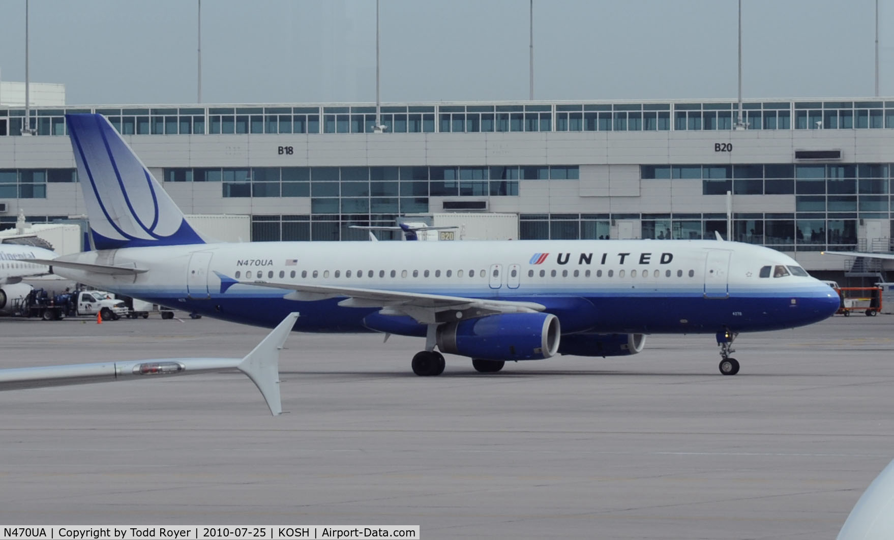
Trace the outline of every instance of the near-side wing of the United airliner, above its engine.
{"label": "near-side wing of the United airliner, above its engine", "polygon": [[287,300],[314,301],[347,297],[339,302],[339,306],[344,308],[382,308],[380,311],[382,315],[411,316],[423,325],[447,323],[496,313],[533,313],[546,309],[543,304],[536,302],[482,300],[422,292],[383,291],[301,283],[237,282],[223,274],[218,274],[218,276],[221,278],[222,292],[239,283],[291,291],[283,297]]}

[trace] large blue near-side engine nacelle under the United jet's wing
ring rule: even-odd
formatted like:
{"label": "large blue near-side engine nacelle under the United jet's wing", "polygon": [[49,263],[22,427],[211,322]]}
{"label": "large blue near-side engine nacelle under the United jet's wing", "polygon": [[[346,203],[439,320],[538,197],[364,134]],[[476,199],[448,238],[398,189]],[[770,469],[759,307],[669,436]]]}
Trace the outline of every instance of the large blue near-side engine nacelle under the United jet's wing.
{"label": "large blue near-side engine nacelle under the United jet's wing", "polygon": [[559,350],[559,317],[504,313],[438,326],[442,352],[485,360],[548,359]]}

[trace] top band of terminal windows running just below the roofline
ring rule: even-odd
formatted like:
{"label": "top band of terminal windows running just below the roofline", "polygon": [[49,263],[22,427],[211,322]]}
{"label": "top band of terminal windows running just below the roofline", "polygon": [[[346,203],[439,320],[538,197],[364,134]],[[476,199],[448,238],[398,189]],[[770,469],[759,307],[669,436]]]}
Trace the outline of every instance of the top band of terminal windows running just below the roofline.
{"label": "top band of terminal windows running just below the roofline", "polygon": [[[894,102],[745,102],[749,130],[864,130],[894,128]],[[36,107],[30,128],[42,136],[64,136],[64,114],[104,114],[126,135],[242,133],[369,133],[369,105],[269,107],[54,109]],[[0,136],[18,136],[24,111],[4,111]],[[730,102],[582,103],[500,105],[384,105],[384,133],[478,131],[729,131],[738,123]],[[321,118],[322,116],[322,118]],[[321,128],[320,122],[323,122]],[[793,125],[794,124],[794,125]]]}

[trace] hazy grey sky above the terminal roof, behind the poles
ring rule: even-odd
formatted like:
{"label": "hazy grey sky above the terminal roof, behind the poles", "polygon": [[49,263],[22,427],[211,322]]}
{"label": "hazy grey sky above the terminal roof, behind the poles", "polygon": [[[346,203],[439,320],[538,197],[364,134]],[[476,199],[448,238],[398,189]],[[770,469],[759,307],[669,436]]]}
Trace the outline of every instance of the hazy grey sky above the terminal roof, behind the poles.
{"label": "hazy grey sky above the terminal roof, behind the poles", "polygon": [[[894,94],[881,0],[881,95]],[[31,80],[195,103],[196,0],[31,0]],[[24,80],[25,0],[0,0]],[[735,98],[737,0],[535,0],[536,99]],[[746,98],[869,97],[874,0],[743,0]],[[381,0],[382,101],[526,99],[528,0]],[[375,0],[205,0],[206,103],[375,101]]]}

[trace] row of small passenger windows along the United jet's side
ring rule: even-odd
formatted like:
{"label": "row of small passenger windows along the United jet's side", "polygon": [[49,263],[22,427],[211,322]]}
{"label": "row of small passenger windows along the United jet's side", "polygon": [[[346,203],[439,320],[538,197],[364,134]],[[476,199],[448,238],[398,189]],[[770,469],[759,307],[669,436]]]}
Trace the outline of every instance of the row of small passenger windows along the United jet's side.
{"label": "row of small passenger windows along the United jet's side", "polygon": [[[793,267],[794,267],[794,266],[793,266]],[[769,268],[769,266],[767,266],[767,268]],[[640,275],[640,276],[642,276],[642,277],[648,278],[648,277],[650,276],[648,270],[641,270],[641,271],[638,271],[638,272],[639,272],[638,275]],[[763,276],[763,269],[761,270],[761,272],[762,272],[762,277],[765,277],[765,276]],[[801,272],[804,272],[804,270],[801,269]],[[499,271],[499,270],[495,270],[495,269],[494,269],[492,273],[493,273],[493,277],[500,277],[500,271]],[[432,273],[430,270],[423,270],[423,271],[421,271],[421,272],[420,272],[419,270],[413,270],[411,274],[412,274],[413,277],[419,277],[420,274],[422,275],[422,277],[429,277],[429,276],[432,275],[433,273]],[[592,270],[584,270],[584,271],[581,271],[581,270],[570,270],[570,271],[569,271],[569,270],[566,269],[566,270],[562,270],[562,271],[561,271],[561,277],[569,277],[569,275],[572,276],[572,277],[580,277],[581,275],[583,275],[584,277],[592,277],[594,274],[595,274],[596,277],[603,277],[603,270],[602,270],[602,269],[596,270],[595,273],[594,273]],[[627,274],[627,271],[626,271],[626,270],[621,269],[621,270],[618,271],[618,277],[625,277],[626,274]],[[793,272],[793,274],[794,274],[794,272]],[[806,273],[805,273],[805,274],[806,274]],[[274,278],[274,275],[276,275],[276,273],[275,273],[273,270],[268,270],[268,271],[266,272],[266,275],[267,275],[267,278],[268,278],[268,279],[273,279],[273,278]],[[329,270],[324,270],[324,271],[322,271],[322,272],[320,272],[319,270],[313,270],[313,271],[309,271],[309,272],[308,272],[308,270],[302,270],[302,271],[301,271],[301,278],[302,278],[302,279],[307,279],[307,278],[308,278],[308,275],[309,275],[311,278],[314,278],[314,279],[320,277],[321,275],[323,276],[324,279],[328,279],[329,276],[330,276],[330,271],[329,271]],[[345,270],[345,271],[344,271],[344,277],[346,277],[346,278],[350,278],[351,275],[352,275],[352,274],[351,274],[351,271],[350,271],[350,270]],[[353,274],[353,275],[355,275],[355,276],[358,277],[358,278],[363,278],[364,273],[363,273],[363,270],[358,270],[357,273],[356,273],[356,274]],[[385,275],[386,275],[386,272],[385,272],[384,270],[379,270],[378,275],[379,275],[380,278],[384,278]],[[387,275],[389,275],[389,276],[391,276],[391,277],[397,277],[397,270],[392,270],[392,271],[390,271],[389,273],[387,273]],[[401,270],[401,277],[409,277],[409,275],[410,275],[409,270]],[[441,270],[435,270],[435,271],[434,271],[434,277],[441,277],[441,275],[442,275]],[[453,276],[453,271],[452,271],[452,270],[445,270],[445,271],[443,272],[443,275],[444,275],[444,277],[452,277],[452,276]],[[463,277],[464,275],[466,275],[464,270],[457,270],[457,271],[456,271],[456,276],[457,276],[457,277]],[[480,270],[480,271],[478,271],[477,275],[478,275],[479,277],[482,277],[482,278],[487,277],[487,271],[486,271],[486,270]],[[535,275],[539,275],[540,277],[546,277],[546,270],[540,270],[539,274],[536,274],[535,271],[534,271],[533,269],[527,271],[527,277],[535,277]],[[558,276],[560,275],[560,273],[559,273],[558,270],[551,270],[551,271],[549,272],[549,275],[550,275],[550,277],[558,277]],[[610,269],[610,270],[606,270],[604,275],[606,275],[607,277],[614,277],[614,275],[615,275],[615,271],[614,271],[614,270],[611,270],[611,269]],[[630,277],[637,277],[637,270],[636,270],[636,269],[630,270],[629,275],[630,275]],[[652,272],[652,274],[651,274],[651,276],[652,276],[652,277],[655,277],[655,278],[657,278],[657,277],[661,277],[661,275],[662,275],[661,270],[657,270],[657,269],[654,270],[654,271]],[[665,271],[664,271],[664,276],[665,276],[665,277],[671,277],[672,275],[673,275],[673,272],[672,272],[671,270],[665,270]],[[695,271],[695,270],[689,270],[689,271],[688,271],[688,276],[689,276],[689,277],[694,277],[695,275],[696,275],[696,271]],[[787,274],[787,275],[788,275],[788,274]],[[796,274],[796,275],[799,275],[799,274]],[[240,270],[237,270],[237,271],[236,271],[236,274],[235,274],[235,278],[236,278],[236,279],[240,279],[241,276],[242,276],[242,272],[241,272]],[[285,276],[286,276],[285,271],[284,271],[284,270],[280,270],[280,271],[279,271],[279,277],[280,277],[281,279],[283,279],[283,278],[285,278]],[[294,279],[294,278],[297,277],[297,276],[298,276],[298,271],[296,271],[296,270],[292,270],[292,271],[289,273],[289,277],[292,278],[292,279]],[[342,277],[342,271],[341,271],[341,270],[335,270],[335,271],[332,272],[332,276],[335,277],[335,278]],[[367,270],[367,274],[366,274],[366,276],[367,276],[368,278],[375,277],[375,271],[374,271],[374,270]],[[468,271],[468,277],[472,277],[472,278],[474,278],[475,276],[476,276],[476,271],[475,271],[474,269]],[[519,276],[519,271],[518,271],[517,269],[513,268],[513,269],[510,270],[510,277],[515,278],[515,277],[518,277],[518,276]],[[245,279],[252,279],[253,277],[255,277],[255,278],[257,278],[257,279],[262,279],[262,278],[264,277],[264,271],[263,271],[263,270],[257,270],[257,271],[247,270],[247,271],[245,272]],[[682,271],[682,270],[677,270],[677,277],[683,277],[683,271]]]}

